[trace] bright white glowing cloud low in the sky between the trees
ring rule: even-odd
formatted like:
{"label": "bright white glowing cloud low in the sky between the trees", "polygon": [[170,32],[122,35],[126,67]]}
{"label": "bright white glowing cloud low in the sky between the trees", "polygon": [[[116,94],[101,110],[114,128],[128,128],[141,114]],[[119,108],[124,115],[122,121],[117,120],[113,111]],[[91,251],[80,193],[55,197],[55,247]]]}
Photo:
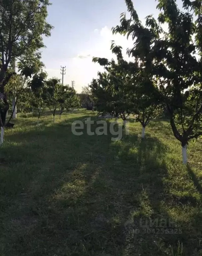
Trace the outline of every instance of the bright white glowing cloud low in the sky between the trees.
{"label": "bright white glowing cloud low in the sky between the trees", "polygon": [[[66,75],[64,76],[64,83],[71,84],[72,80],[75,80],[75,89],[81,92],[83,86],[87,86],[91,83],[93,78],[97,77],[98,71],[103,71],[98,63],[92,62],[92,57],[101,57],[111,60],[116,59],[116,56],[112,54],[110,50],[111,41],[114,40],[116,45],[122,46],[123,56],[128,59],[126,55],[126,49],[132,47],[132,40],[127,40],[126,37],[119,34],[113,35],[108,27],[103,27],[100,30],[94,30],[96,32],[96,38],[93,38],[92,43],[86,48],[81,48],[77,57],[68,60],[66,68]],[[91,41],[90,41],[91,42]],[[56,76],[62,78],[60,69],[46,69],[49,74],[49,78]]]}

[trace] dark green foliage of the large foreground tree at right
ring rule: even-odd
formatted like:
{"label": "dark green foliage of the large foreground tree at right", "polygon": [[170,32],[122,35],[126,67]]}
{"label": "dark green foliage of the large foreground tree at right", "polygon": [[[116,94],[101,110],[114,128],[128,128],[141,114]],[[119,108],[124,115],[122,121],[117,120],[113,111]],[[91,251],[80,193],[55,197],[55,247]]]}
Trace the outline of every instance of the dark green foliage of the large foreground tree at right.
{"label": "dark green foliage of the large foreground tree at right", "polygon": [[[146,26],[141,24],[132,1],[125,2],[131,18],[122,14],[120,26],[112,31],[132,36],[134,47],[127,53],[154,81],[153,87],[169,113],[174,136],[184,146],[202,134],[202,2],[183,0],[184,10],[180,11],[176,1],[159,0],[159,23],[150,15]],[[163,23],[168,25],[168,31],[163,31]]]}

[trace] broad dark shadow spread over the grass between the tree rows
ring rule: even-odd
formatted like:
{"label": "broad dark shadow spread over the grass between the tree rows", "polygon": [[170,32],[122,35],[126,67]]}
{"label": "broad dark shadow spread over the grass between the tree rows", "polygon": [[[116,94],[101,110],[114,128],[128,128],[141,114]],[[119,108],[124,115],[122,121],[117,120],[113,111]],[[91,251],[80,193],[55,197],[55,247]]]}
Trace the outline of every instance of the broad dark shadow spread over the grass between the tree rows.
{"label": "broad dark shadow spread over the grass between the tree rows", "polygon": [[9,164],[0,176],[0,252],[172,255],[168,246],[176,247],[180,235],[151,234],[140,225],[169,218],[162,207],[165,145],[149,136],[141,141],[136,134],[111,141],[109,123],[108,136],[89,136],[86,126],[82,136],[73,136],[75,119],[26,132],[20,145],[3,148]]}

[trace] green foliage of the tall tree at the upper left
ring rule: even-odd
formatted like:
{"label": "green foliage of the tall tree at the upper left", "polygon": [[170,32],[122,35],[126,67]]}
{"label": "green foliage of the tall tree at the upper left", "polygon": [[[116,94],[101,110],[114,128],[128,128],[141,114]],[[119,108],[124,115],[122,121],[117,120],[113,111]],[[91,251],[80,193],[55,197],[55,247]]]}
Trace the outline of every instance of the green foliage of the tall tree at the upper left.
{"label": "green foliage of the tall tree at the upper left", "polygon": [[[49,0],[2,0],[0,3],[0,86],[4,87],[9,64],[19,61],[22,75],[37,72],[43,36],[50,36],[52,26],[46,22]],[[38,60],[38,67],[32,63]]]}

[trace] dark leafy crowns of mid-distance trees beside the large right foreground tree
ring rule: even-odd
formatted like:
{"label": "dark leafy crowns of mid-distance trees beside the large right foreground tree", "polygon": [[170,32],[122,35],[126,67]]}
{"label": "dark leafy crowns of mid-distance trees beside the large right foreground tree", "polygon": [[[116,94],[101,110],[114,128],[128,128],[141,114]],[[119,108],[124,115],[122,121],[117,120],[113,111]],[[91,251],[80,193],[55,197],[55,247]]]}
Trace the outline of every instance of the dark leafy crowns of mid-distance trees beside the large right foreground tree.
{"label": "dark leafy crowns of mid-distance trees beside the large right foreground tree", "polygon": [[99,79],[91,84],[95,97],[96,109],[120,116],[123,120],[133,113],[137,115],[143,127],[162,112],[160,97],[156,93],[154,81],[145,74],[143,63],[127,62],[123,59],[121,46],[111,44],[111,51],[117,57],[117,63],[112,59],[102,61],[94,58],[94,62],[105,63],[105,72],[99,73]]}

